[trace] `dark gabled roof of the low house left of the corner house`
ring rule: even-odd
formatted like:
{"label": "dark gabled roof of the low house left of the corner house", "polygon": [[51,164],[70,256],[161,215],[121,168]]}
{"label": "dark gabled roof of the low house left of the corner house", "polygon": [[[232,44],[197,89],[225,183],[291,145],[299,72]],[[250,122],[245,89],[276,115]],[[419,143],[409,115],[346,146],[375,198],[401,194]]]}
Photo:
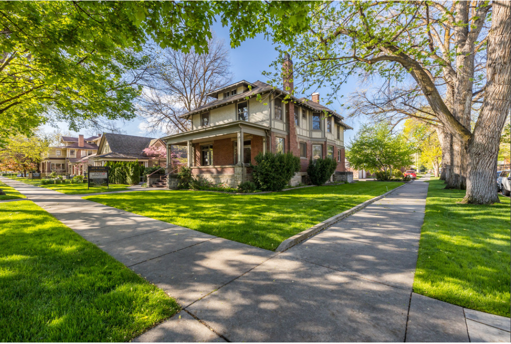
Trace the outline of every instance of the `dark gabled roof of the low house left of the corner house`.
{"label": "dark gabled roof of the low house left of the corner house", "polygon": [[95,158],[150,159],[144,150],[158,139],[152,137],[104,133],[103,138],[110,146],[110,153],[95,155]]}

